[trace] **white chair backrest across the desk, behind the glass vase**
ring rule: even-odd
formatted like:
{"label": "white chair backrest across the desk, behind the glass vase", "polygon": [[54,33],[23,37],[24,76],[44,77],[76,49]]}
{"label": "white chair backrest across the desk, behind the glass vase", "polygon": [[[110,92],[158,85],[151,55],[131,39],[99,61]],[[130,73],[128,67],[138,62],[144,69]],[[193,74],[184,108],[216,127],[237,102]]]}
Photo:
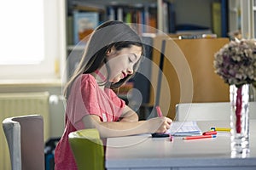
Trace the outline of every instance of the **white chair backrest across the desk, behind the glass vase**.
{"label": "white chair backrest across the desk, behind the glass vase", "polygon": [[[256,118],[256,102],[249,102],[251,119]],[[230,120],[230,102],[182,103],[176,105],[177,121]]]}

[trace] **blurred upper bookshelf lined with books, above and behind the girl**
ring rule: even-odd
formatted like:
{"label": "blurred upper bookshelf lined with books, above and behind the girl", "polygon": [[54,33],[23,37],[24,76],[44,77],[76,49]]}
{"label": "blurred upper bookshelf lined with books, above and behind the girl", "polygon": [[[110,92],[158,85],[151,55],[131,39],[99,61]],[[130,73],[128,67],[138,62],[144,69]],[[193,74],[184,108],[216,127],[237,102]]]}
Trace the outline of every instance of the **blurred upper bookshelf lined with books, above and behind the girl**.
{"label": "blurred upper bookshelf lined with books, above and behind the girl", "polygon": [[[138,33],[215,33],[228,37],[231,0],[66,0],[67,46],[74,40],[74,15],[98,14],[98,25],[105,20],[137,23]],[[232,23],[231,23],[232,24]],[[236,24],[236,23],[235,23]],[[146,26],[144,26],[146,25]],[[151,26],[155,29],[149,29]],[[94,26],[95,27],[95,26]],[[216,27],[218,30],[216,30]],[[148,30],[149,29],[149,30]],[[157,32],[156,32],[157,31]]]}

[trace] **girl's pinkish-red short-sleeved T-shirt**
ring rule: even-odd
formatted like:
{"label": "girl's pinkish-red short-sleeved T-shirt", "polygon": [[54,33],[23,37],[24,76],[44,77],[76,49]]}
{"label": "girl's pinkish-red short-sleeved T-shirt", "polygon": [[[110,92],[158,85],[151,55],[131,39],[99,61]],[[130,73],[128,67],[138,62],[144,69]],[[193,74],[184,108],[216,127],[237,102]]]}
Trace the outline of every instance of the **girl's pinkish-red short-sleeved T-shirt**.
{"label": "girl's pinkish-red short-sleeved T-shirt", "polygon": [[96,115],[102,122],[117,122],[124,107],[124,100],[109,88],[102,90],[90,74],[79,76],[67,99],[66,127],[55,148],[55,170],[77,169],[68,134],[84,128],[84,116]]}

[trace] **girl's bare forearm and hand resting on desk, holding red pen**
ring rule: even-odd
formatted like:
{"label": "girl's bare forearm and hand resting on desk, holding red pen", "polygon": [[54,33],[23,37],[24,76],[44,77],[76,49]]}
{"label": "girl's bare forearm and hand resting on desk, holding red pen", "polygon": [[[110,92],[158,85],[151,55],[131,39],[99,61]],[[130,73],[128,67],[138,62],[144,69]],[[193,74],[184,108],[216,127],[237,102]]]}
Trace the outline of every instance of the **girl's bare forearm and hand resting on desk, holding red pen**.
{"label": "girl's bare forearm and hand resting on desk, holding red pen", "polygon": [[127,136],[140,133],[164,133],[170,128],[172,120],[165,116],[139,122],[102,122],[99,116],[83,118],[85,128],[97,128],[101,138]]}

